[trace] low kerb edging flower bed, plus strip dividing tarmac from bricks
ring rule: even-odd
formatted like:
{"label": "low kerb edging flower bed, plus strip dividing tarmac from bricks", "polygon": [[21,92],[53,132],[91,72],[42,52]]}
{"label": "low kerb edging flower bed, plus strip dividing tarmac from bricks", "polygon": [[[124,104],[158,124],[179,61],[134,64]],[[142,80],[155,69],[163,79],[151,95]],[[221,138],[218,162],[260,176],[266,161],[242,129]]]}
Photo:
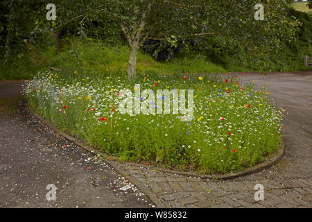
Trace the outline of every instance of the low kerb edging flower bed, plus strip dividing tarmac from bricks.
{"label": "low kerb edging flower bed, plus strip dividing tarmac from bricks", "polygon": [[[28,108],[28,110],[31,111],[29,108]],[[76,138],[72,137],[71,135],[68,135],[67,133],[62,132],[61,130],[59,130],[58,128],[53,126],[52,123],[50,123],[46,119],[40,117],[40,115],[35,114],[33,112],[30,112],[30,113],[33,117],[35,117],[35,119],[42,121],[46,126],[49,126],[49,128],[51,128],[53,131],[62,135],[65,138],[67,138],[69,141],[73,142],[74,144],[76,144],[82,148],[85,148],[87,151],[94,153],[94,155],[102,154],[102,155],[106,155],[109,157],[109,155],[107,155],[106,153],[103,153],[102,151],[98,151],[98,150],[94,149],[92,146],[85,144],[85,142],[82,142],[79,139],[76,139]],[[261,171],[262,169],[272,167],[272,165],[276,164],[279,160],[281,160],[283,155],[284,155],[284,144],[281,144],[281,148],[279,148],[279,151],[277,151],[277,153],[275,153],[275,155],[273,157],[271,157],[270,160],[266,160],[264,162],[261,162],[261,163],[257,164],[256,166],[250,167],[250,168],[245,169],[243,171],[239,171],[236,173],[225,173],[222,175],[217,175],[217,174],[216,175],[212,175],[212,174],[209,175],[209,174],[198,174],[198,173],[185,172],[185,171],[175,171],[175,170],[171,170],[171,169],[163,169],[160,167],[147,167],[144,164],[137,164],[137,163],[131,163],[131,162],[123,163],[123,162],[119,162],[117,160],[108,160],[108,159],[106,159],[105,162],[110,164],[111,167],[114,167],[114,169],[116,171],[118,171],[123,176],[125,176],[125,178],[127,178],[130,182],[132,182],[132,184],[134,184],[139,189],[141,189],[141,191],[143,191],[150,198],[150,200],[152,200],[155,203],[155,205],[157,207],[165,207],[165,205],[159,200],[159,198],[157,198],[157,196],[155,194],[153,194],[153,192],[151,192],[146,186],[142,185],[142,183],[139,182],[136,178],[131,178],[130,175],[128,175],[127,171],[125,171],[125,169],[123,169],[123,166],[125,166],[125,164],[128,164],[130,166],[132,165],[135,167],[144,168],[144,169],[150,169],[150,170],[155,169],[157,171],[162,171],[165,173],[173,173],[173,174],[180,175],[180,176],[187,176],[187,177],[201,178],[201,179],[227,180],[227,179],[236,178],[236,177],[240,177],[240,176],[246,176],[248,174]]]}

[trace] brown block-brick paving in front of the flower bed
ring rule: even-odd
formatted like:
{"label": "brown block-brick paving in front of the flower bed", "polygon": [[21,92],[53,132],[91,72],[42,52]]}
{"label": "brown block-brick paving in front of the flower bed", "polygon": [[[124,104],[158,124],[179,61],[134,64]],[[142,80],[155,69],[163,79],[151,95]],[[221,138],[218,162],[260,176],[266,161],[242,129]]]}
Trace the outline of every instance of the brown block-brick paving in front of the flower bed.
{"label": "brown block-brick paving in front of the flower bed", "polygon": [[[150,196],[157,207],[312,207],[312,177],[214,181],[131,164],[116,163],[114,167]],[[263,201],[254,200],[257,184],[264,187]]]}

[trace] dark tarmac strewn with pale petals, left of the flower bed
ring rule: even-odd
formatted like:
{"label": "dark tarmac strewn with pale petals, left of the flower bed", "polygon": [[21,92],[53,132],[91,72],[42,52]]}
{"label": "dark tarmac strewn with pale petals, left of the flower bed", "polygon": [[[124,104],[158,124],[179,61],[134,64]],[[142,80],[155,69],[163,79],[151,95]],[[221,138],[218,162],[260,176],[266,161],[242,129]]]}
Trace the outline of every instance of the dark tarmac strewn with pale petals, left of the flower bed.
{"label": "dark tarmac strewn with pale petals, left of the flower bed", "polygon": [[[31,119],[21,85],[0,83],[0,207],[152,206],[135,187],[119,190],[127,181],[92,153]],[[49,184],[56,201],[46,200]]]}

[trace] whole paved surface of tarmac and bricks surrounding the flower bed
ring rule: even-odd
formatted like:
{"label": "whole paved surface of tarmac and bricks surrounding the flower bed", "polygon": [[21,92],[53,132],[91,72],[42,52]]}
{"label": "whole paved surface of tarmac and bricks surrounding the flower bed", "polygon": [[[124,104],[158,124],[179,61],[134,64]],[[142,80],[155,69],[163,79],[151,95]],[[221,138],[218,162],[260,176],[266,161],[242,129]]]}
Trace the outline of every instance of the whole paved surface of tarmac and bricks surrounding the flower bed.
{"label": "whole paved surface of tarmac and bricks surrounding the flower bed", "polygon": [[[231,75],[237,74],[224,74]],[[239,77],[241,83],[254,80],[258,89],[265,82],[269,83],[275,105],[286,110],[286,152],[278,164],[250,176],[225,181],[177,176],[123,163],[116,164],[116,170],[148,194],[157,207],[312,207],[312,72]],[[0,205],[149,206],[145,200],[137,200],[135,194],[116,196],[110,183],[117,180],[120,184],[121,180],[113,169],[88,164],[84,161],[88,153],[30,120],[21,112],[23,105],[13,106],[13,98],[19,96],[19,90],[13,88],[16,85],[21,83],[0,83],[2,97],[10,96],[10,101],[0,99],[0,175],[3,178]],[[63,144],[70,146],[62,148]],[[88,166],[92,171],[86,171]],[[101,180],[98,187],[88,183],[90,176],[101,179],[103,175],[107,178]],[[44,200],[44,186],[57,181],[60,187],[66,188],[60,191],[58,205],[51,205]],[[254,185],[258,183],[265,188],[263,201],[254,200]],[[96,199],[96,196],[100,198]]]}

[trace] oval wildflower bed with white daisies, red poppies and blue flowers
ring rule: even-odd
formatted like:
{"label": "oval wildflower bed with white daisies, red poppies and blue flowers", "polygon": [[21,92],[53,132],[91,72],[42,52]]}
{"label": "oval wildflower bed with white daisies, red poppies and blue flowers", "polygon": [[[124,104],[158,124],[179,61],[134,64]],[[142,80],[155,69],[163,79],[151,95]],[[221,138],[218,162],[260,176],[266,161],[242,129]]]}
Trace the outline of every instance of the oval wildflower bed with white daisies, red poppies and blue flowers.
{"label": "oval wildflower bed with white daisies, red poppies and blue flowers", "polygon": [[[172,113],[121,114],[120,92],[135,84],[141,91],[180,94],[193,89],[193,119],[181,121]],[[130,81],[108,72],[83,78],[77,71],[46,71],[29,81],[24,92],[34,112],[118,160],[226,173],[252,167],[279,149],[283,110],[272,107],[266,87],[256,91],[252,83],[241,85],[239,76],[212,74]]]}

